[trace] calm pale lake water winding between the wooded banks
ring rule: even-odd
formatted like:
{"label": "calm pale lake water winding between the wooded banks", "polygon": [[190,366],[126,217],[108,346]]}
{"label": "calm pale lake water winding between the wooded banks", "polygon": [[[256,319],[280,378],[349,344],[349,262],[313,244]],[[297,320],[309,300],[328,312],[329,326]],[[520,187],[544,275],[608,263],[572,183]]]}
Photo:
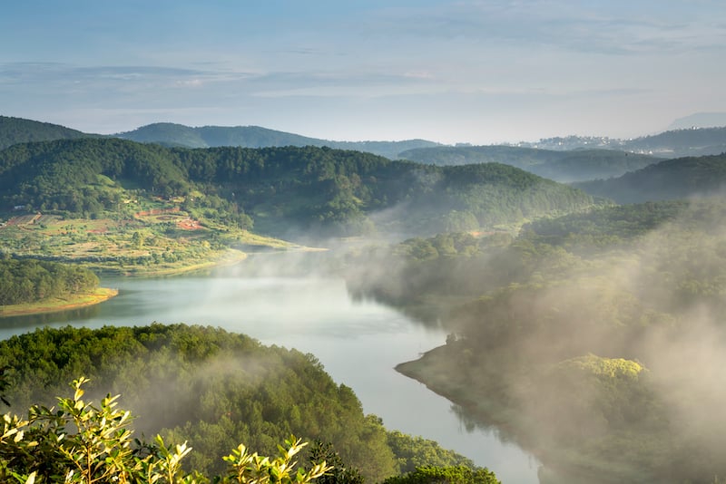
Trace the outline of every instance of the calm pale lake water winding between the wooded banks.
{"label": "calm pale lake water winding between the wooded banks", "polygon": [[56,315],[0,320],[0,337],[42,325],[101,327],[187,323],[221,326],[315,354],[338,383],[350,386],[367,413],[389,430],[437,440],[495,471],[505,484],[536,483],[537,462],[495,430],[467,431],[451,402],[394,370],[444,344],[446,332],[431,328],[388,306],[353,300],[336,278],[290,276],[176,276],[105,278],[117,287],[112,300]]}

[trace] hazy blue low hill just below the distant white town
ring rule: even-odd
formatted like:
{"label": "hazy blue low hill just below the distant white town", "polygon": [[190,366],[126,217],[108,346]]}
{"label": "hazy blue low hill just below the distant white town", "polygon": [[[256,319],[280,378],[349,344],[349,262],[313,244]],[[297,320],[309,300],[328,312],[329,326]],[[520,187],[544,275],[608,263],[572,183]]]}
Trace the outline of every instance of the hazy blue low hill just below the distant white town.
{"label": "hazy blue low hill just below the distant white town", "polygon": [[514,146],[439,146],[400,154],[405,160],[435,165],[504,163],[560,182],[604,179],[642,169],[661,158],[618,150],[541,150]]}

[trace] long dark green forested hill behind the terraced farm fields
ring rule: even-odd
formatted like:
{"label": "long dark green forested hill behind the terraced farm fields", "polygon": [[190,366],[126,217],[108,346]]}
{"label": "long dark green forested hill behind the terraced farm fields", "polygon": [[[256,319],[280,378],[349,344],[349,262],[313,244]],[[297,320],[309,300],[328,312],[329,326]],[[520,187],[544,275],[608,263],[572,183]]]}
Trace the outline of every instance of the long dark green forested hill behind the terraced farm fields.
{"label": "long dark green forested hill behind the terraced farm fields", "polygon": [[580,190],[506,165],[436,167],[329,148],[189,150],[89,139],[0,152],[6,208],[91,216],[138,196],[243,211],[277,235],[471,230],[593,204]]}

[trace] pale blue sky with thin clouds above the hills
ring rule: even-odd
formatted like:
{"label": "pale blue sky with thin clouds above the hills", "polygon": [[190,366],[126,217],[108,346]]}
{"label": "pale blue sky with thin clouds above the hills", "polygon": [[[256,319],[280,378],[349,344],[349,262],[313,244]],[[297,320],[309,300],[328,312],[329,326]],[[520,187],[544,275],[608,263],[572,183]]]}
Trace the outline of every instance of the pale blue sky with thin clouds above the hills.
{"label": "pale blue sky with thin clouds above the hills", "polygon": [[630,138],[726,111],[723,0],[7,0],[0,115],[97,133]]}

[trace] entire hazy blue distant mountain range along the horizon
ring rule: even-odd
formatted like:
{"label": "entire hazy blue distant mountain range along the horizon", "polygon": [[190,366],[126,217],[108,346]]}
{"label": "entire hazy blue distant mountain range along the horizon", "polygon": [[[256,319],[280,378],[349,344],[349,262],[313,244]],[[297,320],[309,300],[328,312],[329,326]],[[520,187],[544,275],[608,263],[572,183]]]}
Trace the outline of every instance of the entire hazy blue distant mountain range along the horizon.
{"label": "entire hazy blue distant mountain range along the horizon", "polygon": [[[720,119],[718,116],[711,118],[711,121]],[[102,135],[56,124],[0,116],[0,149],[32,141],[100,137]],[[259,126],[192,128],[169,122],[153,123],[103,137],[180,148],[327,146],[366,151],[390,160],[405,159],[436,165],[495,162],[560,182],[608,179],[661,160],[726,152],[726,127],[665,131],[633,140],[567,136],[536,143],[523,142],[517,146],[446,146],[429,140],[334,141]]]}

